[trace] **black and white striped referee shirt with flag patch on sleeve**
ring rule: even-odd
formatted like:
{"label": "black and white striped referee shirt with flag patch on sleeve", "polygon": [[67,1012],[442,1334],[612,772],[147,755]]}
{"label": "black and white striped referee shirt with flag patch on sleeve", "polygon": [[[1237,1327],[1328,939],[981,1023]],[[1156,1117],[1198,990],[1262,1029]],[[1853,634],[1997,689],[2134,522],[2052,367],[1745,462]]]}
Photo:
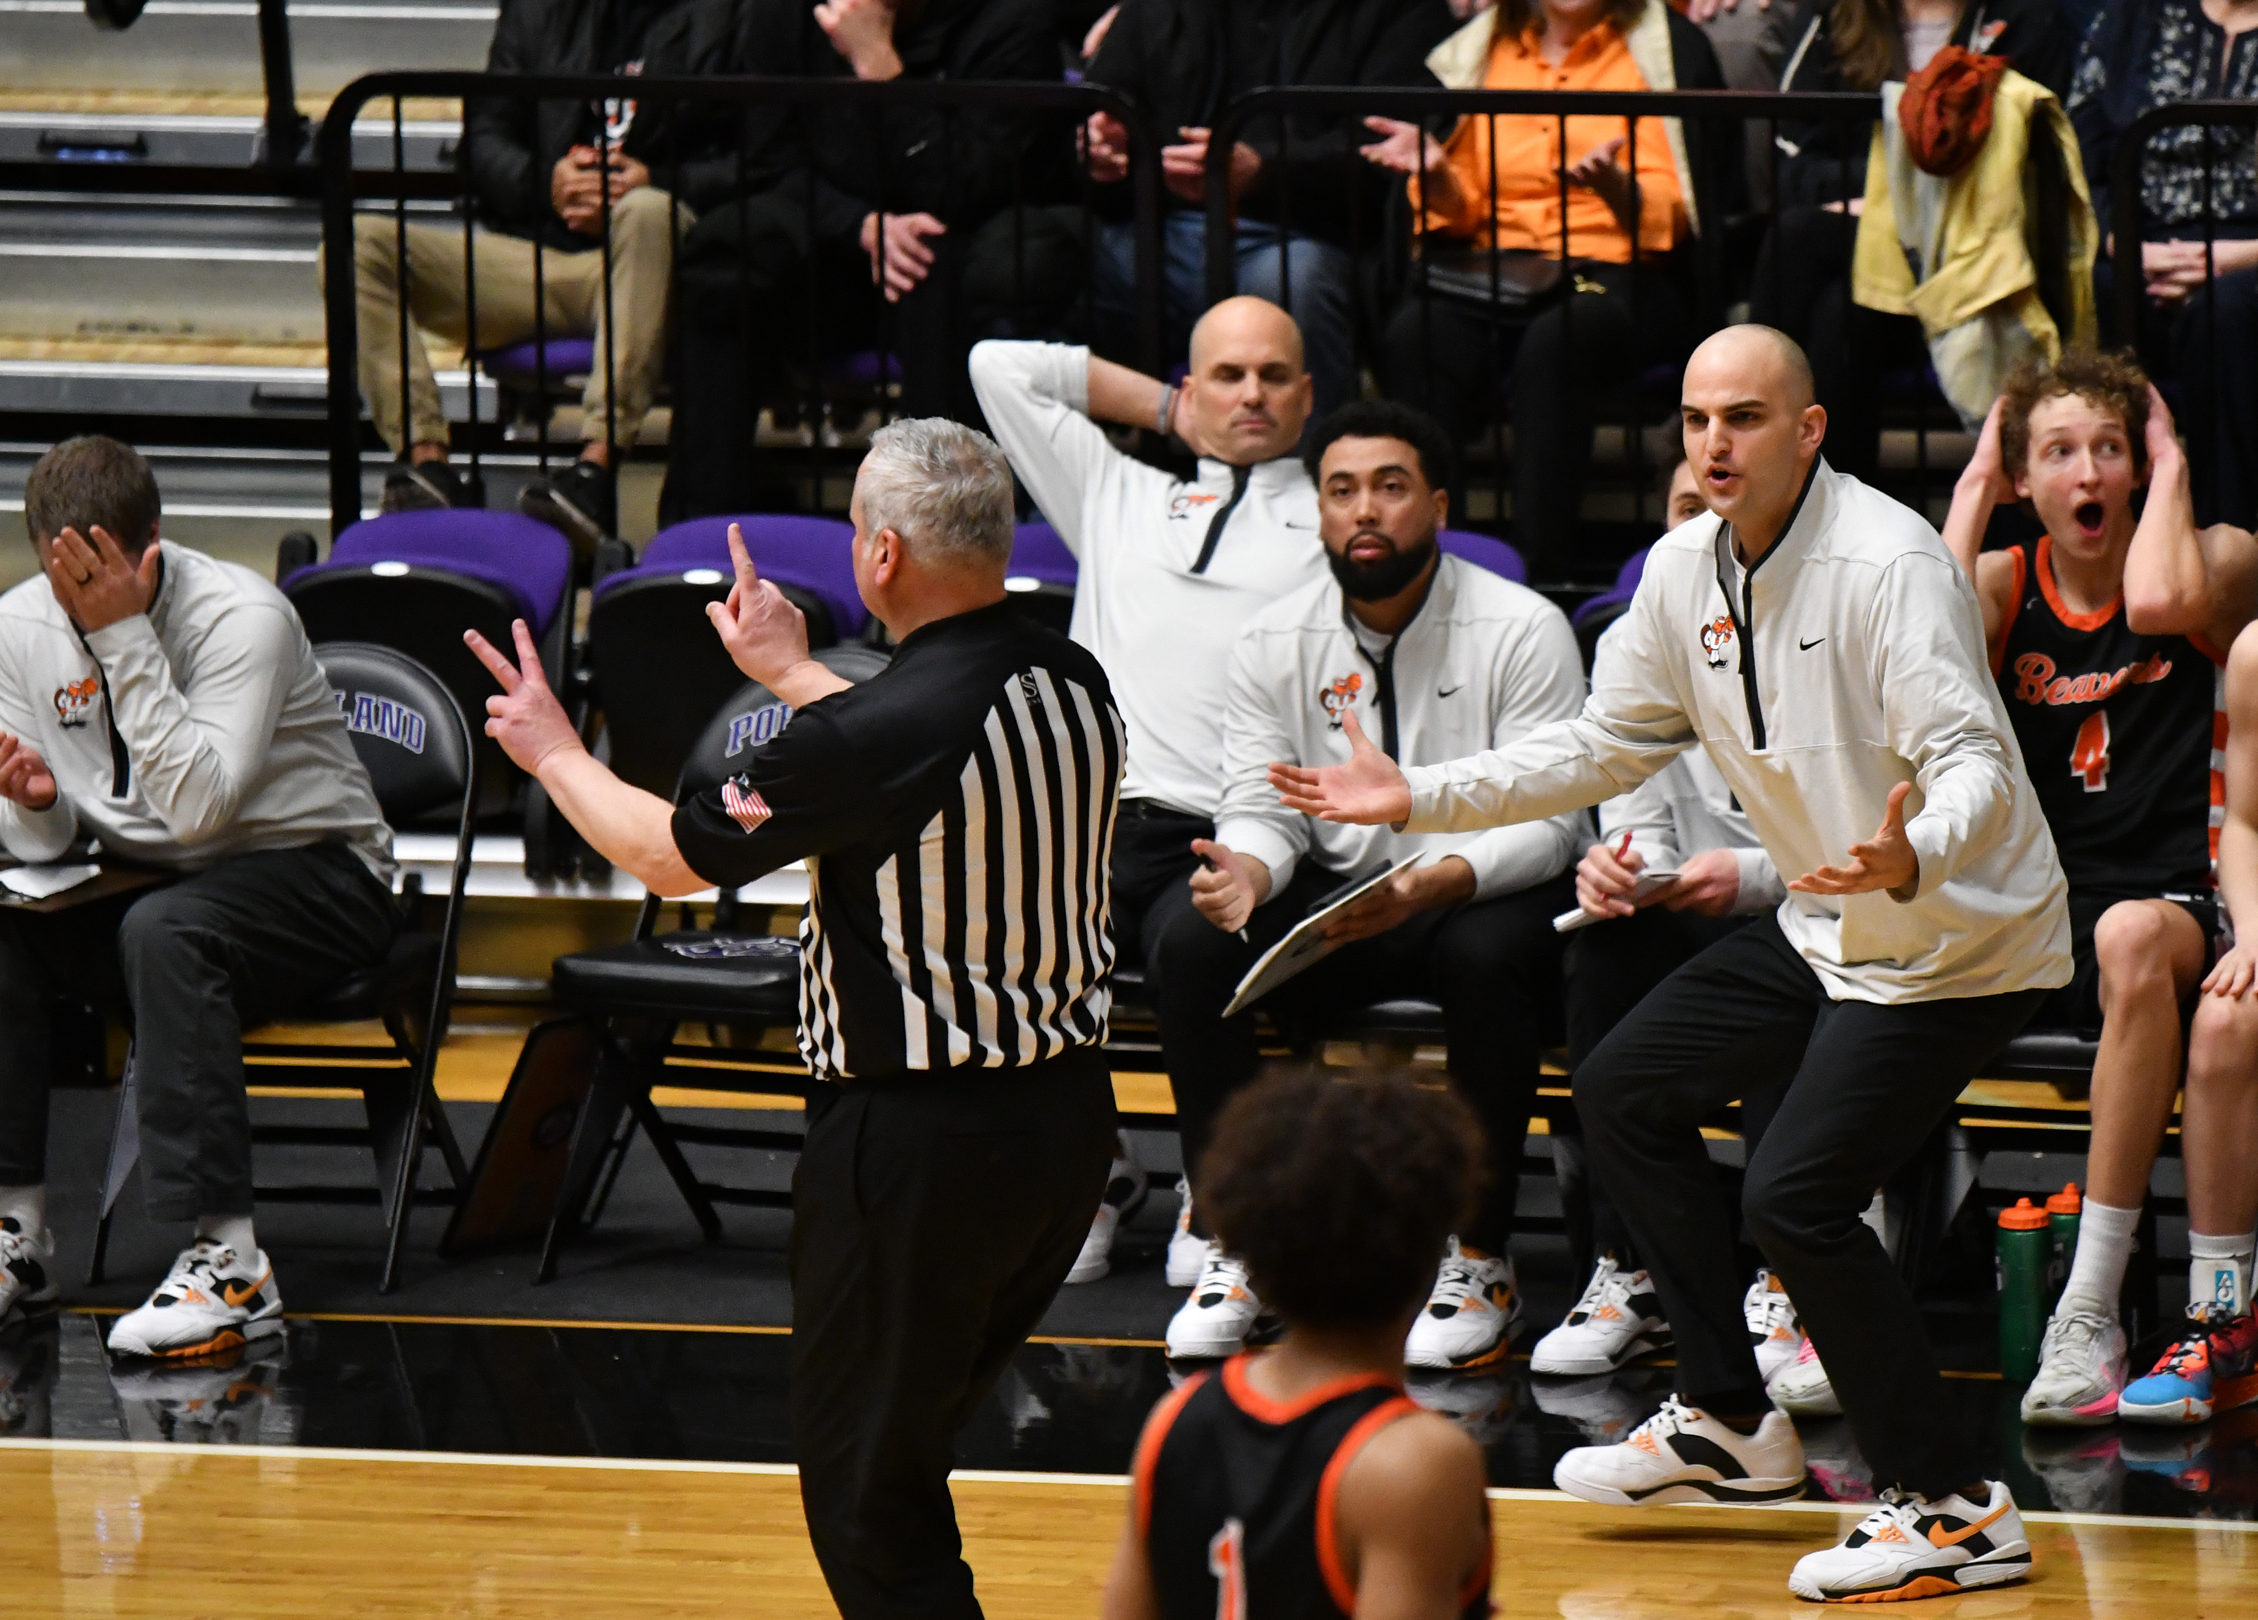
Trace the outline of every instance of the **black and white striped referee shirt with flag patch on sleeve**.
{"label": "black and white striped referee shirt with flag patch on sleeve", "polygon": [[806,859],[813,1073],[1034,1064],[1106,1033],[1122,752],[1097,660],[998,603],[799,709],[675,845],[725,888]]}

